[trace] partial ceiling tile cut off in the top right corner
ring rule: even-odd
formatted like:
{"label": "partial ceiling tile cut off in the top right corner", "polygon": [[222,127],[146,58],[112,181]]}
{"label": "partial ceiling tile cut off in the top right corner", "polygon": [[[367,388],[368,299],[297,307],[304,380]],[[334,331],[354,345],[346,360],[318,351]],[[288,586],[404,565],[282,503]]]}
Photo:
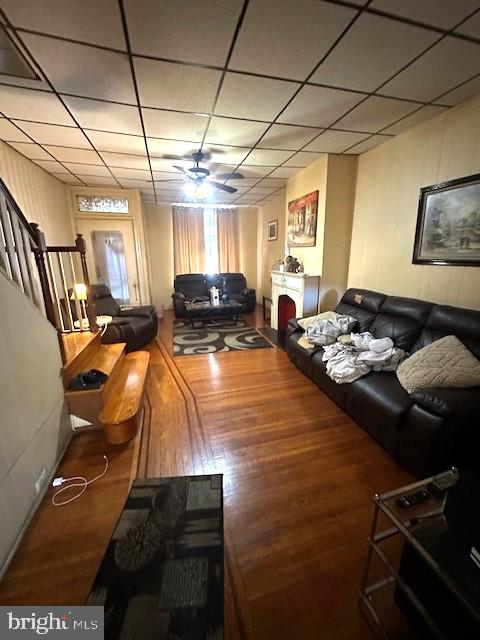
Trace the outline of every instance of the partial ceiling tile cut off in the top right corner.
{"label": "partial ceiling tile cut off in the top right corner", "polygon": [[442,29],[454,27],[474,9],[477,0],[373,0],[373,9],[380,9],[403,18],[410,18]]}

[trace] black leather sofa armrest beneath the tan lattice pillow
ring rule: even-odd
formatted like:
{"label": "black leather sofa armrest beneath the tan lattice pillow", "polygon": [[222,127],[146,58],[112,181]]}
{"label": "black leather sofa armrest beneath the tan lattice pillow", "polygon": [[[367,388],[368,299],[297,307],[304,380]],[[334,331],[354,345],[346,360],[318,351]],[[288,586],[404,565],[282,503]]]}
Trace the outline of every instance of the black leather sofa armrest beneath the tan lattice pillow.
{"label": "black leather sofa armrest beneath the tan lattice pillow", "polygon": [[480,387],[470,389],[428,387],[415,391],[410,397],[416,404],[435,415],[463,422],[477,420],[479,393]]}

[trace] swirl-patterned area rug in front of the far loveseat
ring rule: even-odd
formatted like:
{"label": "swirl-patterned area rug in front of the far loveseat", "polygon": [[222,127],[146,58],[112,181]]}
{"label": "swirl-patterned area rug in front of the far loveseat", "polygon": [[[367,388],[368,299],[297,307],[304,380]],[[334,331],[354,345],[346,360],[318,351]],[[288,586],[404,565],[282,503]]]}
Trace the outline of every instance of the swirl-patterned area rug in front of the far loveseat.
{"label": "swirl-patterned area rug in front of the far loveseat", "polygon": [[175,320],[173,323],[174,356],[265,349],[271,346],[259,331],[244,320],[238,320],[237,324],[196,322],[195,327],[189,320]]}

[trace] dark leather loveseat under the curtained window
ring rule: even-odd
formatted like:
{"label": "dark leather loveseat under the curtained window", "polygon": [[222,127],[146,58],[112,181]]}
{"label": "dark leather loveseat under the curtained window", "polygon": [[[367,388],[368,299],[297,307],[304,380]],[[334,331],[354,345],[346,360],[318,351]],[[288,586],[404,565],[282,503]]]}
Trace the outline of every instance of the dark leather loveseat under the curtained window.
{"label": "dark leather loveseat under the curtained window", "polygon": [[230,300],[236,300],[242,305],[239,313],[252,313],[255,311],[255,289],[247,287],[247,281],[243,273],[187,273],[175,277],[173,308],[176,318],[188,318],[189,313],[185,308],[186,301],[209,300],[211,287],[217,287],[221,294],[228,294]]}

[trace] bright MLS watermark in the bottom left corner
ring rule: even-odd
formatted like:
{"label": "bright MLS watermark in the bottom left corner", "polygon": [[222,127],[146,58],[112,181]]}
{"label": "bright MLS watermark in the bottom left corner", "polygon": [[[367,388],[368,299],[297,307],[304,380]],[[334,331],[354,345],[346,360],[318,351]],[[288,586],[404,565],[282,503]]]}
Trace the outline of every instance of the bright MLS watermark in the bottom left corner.
{"label": "bright MLS watermark in the bottom left corner", "polygon": [[0,640],[87,636],[103,640],[103,607],[0,607]]}

